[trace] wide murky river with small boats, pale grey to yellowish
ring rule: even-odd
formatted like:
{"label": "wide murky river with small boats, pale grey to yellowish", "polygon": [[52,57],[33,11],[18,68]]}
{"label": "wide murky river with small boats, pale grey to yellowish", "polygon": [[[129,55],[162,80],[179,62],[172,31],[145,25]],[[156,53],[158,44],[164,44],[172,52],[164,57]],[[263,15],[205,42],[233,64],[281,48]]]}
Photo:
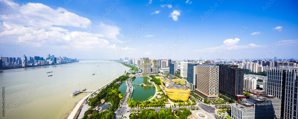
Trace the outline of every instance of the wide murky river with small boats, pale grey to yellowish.
{"label": "wide murky river with small boats, pale grey to yellowish", "polygon": [[[90,62],[108,61],[80,61]],[[0,71],[0,86],[5,88],[5,117],[0,118],[66,118],[76,102],[90,94],[70,96],[70,93],[83,88],[97,90],[127,69],[109,61],[109,64],[61,64]]]}

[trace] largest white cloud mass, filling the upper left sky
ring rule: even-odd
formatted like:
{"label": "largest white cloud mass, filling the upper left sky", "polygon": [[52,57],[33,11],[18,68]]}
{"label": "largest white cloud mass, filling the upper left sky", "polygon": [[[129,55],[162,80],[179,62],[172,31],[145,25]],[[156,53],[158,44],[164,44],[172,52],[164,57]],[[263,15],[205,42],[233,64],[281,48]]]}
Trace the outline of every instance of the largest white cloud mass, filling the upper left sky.
{"label": "largest white cloud mass, filling the upper left sky", "polygon": [[[9,12],[0,13],[0,42],[15,45],[30,40],[30,47],[71,46],[79,48],[113,48],[108,38],[117,42],[121,30],[117,26],[100,23],[100,34],[69,31],[67,28],[91,28],[91,21],[63,8],[52,9],[40,3],[16,4],[0,0],[0,7],[13,6]],[[7,40],[10,39],[10,40]],[[121,42],[121,41],[118,41]]]}

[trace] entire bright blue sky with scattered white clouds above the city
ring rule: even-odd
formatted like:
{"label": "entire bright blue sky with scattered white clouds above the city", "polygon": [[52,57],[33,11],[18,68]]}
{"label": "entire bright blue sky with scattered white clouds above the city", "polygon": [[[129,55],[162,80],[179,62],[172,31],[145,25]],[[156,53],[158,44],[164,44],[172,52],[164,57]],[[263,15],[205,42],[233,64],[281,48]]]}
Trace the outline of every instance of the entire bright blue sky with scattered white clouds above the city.
{"label": "entire bright blue sky with scattered white clouds above the city", "polygon": [[0,0],[0,53],[80,59],[298,59],[297,3]]}

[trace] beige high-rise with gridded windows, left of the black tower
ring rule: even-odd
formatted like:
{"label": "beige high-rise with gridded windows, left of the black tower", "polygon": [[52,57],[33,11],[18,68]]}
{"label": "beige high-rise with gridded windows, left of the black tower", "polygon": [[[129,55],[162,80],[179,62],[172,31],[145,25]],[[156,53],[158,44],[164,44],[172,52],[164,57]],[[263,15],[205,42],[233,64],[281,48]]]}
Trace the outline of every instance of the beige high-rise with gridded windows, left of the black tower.
{"label": "beige high-rise with gridded windows, left of the black tower", "polygon": [[208,101],[218,100],[218,66],[199,64],[195,93]]}

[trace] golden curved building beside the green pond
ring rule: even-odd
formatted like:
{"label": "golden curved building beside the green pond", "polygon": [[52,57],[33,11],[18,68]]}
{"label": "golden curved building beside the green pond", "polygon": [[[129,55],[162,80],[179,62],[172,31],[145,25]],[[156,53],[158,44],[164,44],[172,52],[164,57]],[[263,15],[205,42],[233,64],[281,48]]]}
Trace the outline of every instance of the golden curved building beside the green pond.
{"label": "golden curved building beside the green pond", "polygon": [[172,100],[187,101],[190,94],[190,89],[173,82],[173,79],[162,78],[160,82],[167,96]]}

